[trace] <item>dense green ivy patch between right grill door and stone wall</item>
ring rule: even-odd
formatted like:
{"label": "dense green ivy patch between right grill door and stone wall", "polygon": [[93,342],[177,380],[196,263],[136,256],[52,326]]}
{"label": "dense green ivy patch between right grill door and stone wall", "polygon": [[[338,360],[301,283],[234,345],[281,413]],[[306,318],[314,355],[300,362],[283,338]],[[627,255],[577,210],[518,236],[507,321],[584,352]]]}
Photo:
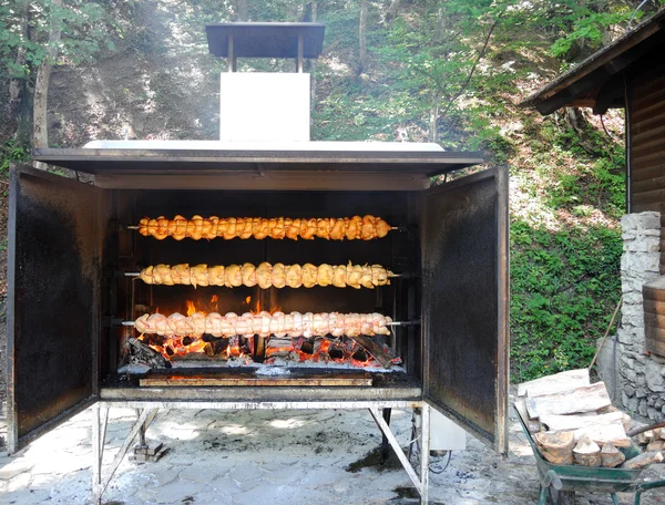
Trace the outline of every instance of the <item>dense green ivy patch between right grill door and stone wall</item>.
{"label": "dense green ivy patch between right grill door and stone wall", "polygon": [[513,380],[589,367],[618,301],[618,230],[511,223]]}

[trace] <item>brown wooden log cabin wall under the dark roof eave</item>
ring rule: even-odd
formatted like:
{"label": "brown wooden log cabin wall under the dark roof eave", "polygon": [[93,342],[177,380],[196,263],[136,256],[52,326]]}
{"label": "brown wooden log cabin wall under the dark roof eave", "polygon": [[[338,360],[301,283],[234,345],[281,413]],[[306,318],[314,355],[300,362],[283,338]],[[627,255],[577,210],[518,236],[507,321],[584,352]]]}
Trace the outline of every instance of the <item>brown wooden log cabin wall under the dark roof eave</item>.
{"label": "brown wooden log cabin wall under the dark roof eave", "polygon": [[[665,65],[636,78],[630,91],[632,213],[661,213],[665,227]],[[665,275],[665,234],[661,233],[661,274]]]}

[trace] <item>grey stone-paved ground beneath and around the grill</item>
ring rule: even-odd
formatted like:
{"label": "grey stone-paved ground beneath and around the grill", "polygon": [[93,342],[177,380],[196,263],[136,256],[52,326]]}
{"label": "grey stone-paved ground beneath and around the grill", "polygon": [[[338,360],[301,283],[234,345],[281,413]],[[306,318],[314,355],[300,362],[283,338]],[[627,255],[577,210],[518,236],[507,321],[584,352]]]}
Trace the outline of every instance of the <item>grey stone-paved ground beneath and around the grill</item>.
{"label": "grey stone-paved ground beneath and around the grill", "polygon": [[[86,504],[91,496],[90,410],[13,456],[0,453],[0,503]],[[114,409],[104,462],[114,456],[135,413]],[[393,411],[398,440],[410,436],[410,411]],[[124,458],[104,494],[108,505],[133,504],[412,504],[403,470],[388,464],[346,467],[380,442],[367,411],[163,410],[147,432],[170,452],[157,463]],[[538,482],[531,450],[511,421],[508,458],[472,437],[468,450],[433,458],[430,497],[436,504],[535,503]],[[648,471],[652,477],[665,467]],[[630,495],[622,503],[632,503]],[[611,504],[608,495],[582,495],[577,504]],[[665,492],[643,504],[665,504]]]}

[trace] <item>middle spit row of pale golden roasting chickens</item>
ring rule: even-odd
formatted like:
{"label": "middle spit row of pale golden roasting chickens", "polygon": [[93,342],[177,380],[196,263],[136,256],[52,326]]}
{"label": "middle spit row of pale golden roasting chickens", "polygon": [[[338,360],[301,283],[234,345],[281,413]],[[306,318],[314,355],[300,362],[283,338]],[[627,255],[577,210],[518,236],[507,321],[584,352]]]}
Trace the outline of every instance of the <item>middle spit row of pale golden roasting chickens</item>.
{"label": "middle spit row of pale golden roasting chickens", "polygon": [[141,279],[149,285],[191,285],[191,286],[226,286],[237,288],[257,286],[262,289],[270,287],[311,288],[314,286],[335,286],[337,288],[361,287],[374,289],[375,286],[390,284],[393,274],[380,265],[272,265],[264,261],[258,267],[244,265],[195,265],[188,264],[155,265],[141,270]]}

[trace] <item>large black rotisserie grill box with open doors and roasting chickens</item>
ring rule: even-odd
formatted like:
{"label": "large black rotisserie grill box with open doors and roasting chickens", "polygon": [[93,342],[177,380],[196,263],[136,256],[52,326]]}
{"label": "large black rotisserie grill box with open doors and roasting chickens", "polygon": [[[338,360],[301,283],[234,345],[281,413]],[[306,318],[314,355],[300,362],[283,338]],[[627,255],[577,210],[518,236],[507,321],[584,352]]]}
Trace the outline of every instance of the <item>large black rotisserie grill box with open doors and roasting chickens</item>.
{"label": "large black rotisserie grill box with open doors and roasting chickens", "polygon": [[94,402],[431,404],[504,452],[508,174],[430,188],[480,157],[406,147],[37,153],[94,184],[13,167],[10,449]]}

